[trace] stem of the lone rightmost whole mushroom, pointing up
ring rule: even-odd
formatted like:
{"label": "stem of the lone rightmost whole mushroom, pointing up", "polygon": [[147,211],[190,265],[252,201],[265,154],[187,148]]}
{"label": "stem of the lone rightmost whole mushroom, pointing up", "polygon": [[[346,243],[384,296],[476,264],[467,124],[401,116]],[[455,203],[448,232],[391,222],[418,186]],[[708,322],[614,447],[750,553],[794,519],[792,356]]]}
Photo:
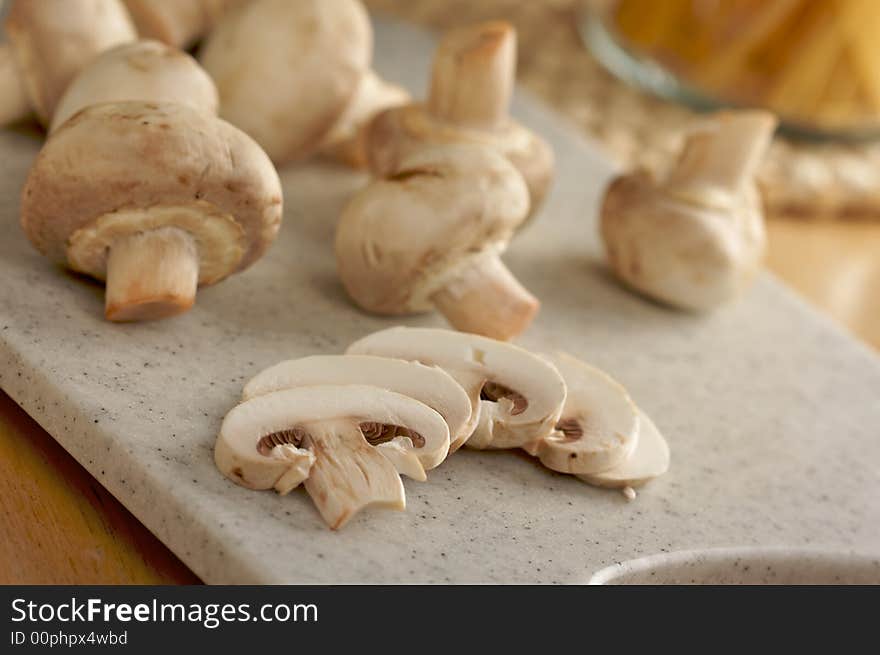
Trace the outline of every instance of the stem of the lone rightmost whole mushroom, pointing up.
{"label": "stem of the lone rightmost whole mushroom, pointing up", "polygon": [[766,111],[721,114],[711,126],[687,137],[666,189],[698,197],[707,192],[738,193],[754,179],[776,122]]}

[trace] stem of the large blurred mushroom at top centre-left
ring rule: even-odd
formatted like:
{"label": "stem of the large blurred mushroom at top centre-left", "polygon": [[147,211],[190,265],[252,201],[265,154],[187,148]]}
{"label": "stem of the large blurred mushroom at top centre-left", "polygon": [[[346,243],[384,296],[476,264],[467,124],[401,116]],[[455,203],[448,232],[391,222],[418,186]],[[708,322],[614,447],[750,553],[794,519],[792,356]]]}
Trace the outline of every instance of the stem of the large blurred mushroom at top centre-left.
{"label": "stem of the large blurred mushroom at top centre-left", "polygon": [[409,100],[406,89],[386,82],[375,71],[367,71],[361,77],[354,98],[324,138],[321,151],[349,166],[366,168],[365,126],[380,112]]}

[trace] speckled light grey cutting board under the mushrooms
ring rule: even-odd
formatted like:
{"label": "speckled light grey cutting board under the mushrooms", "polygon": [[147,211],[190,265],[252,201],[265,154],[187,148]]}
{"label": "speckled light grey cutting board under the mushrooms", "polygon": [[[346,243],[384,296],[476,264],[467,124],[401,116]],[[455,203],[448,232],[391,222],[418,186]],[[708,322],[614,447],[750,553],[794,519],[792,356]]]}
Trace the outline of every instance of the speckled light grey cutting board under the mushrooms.
{"label": "speckled light grey cutting board under the mushrooms", "polygon": [[[431,40],[391,22],[377,31],[379,70],[421,93]],[[610,164],[548,110],[519,99],[515,113],[559,163],[506,257],[543,302],[522,342],[607,369],[666,434],[671,469],[635,502],[521,454],[464,451],[429,482],[405,481],[406,512],[366,511],[331,532],[305,492],[219,475],[214,437],[245,380],[393,324],[361,314],[336,279],[334,222],[363,178],[331,166],[282,171],[281,236],[245,274],[200,291],[185,316],[112,325],[101,287],[19,231],[39,141],[0,131],[0,386],[207,582],[584,582],[666,550],[880,551],[880,359],[770,276],[709,317],[623,291],[596,238]]]}

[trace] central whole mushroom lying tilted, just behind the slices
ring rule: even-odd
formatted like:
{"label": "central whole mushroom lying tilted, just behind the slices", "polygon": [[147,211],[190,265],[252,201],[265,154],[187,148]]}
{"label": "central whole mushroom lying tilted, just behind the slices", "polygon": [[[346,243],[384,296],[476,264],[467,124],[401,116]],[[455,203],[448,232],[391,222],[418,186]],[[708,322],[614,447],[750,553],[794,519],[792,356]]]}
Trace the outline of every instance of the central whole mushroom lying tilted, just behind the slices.
{"label": "central whole mushroom lying tilted, just behind the slices", "polygon": [[509,339],[539,307],[499,258],[528,205],[522,176],[492,149],[467,144],[414,152],[343,211],[339,276],[368,311],[436,307],[459,330]]}

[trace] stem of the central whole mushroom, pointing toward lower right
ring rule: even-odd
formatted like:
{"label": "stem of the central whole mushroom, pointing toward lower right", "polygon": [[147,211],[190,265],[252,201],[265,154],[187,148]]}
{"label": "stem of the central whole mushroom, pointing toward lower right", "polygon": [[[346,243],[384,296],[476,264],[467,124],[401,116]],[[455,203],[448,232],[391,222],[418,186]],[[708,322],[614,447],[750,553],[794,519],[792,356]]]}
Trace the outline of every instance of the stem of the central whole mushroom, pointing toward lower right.
{"label": "stem of the central whole mushroom, pointing toward lower right", "polygon": [[495,255],[474,258],[431,300],[456,330],[503,341],[523,332],[540,306]]}

